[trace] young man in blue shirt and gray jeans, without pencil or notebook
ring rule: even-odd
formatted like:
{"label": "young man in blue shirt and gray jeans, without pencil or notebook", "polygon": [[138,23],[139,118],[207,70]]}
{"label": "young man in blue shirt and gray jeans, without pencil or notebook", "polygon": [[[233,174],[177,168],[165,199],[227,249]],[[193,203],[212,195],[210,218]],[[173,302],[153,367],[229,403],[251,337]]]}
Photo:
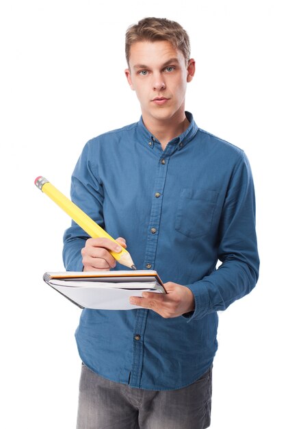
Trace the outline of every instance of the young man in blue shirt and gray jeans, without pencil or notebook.
{"label": "young man in blue shirt and gray jeans, without pencil or notebook", "polygon": [[[217,311],[258,278],[252,174],[241,149],[185,112],[195,62],[181,25],[143,19],[126,53],[142,117],[87,143],[71,197],[168,293],[131,298],[141,309],[83,310],[77,428],[208,428]],[[67,270],[125,269],[109,250],[75,223],[64,235]]]}

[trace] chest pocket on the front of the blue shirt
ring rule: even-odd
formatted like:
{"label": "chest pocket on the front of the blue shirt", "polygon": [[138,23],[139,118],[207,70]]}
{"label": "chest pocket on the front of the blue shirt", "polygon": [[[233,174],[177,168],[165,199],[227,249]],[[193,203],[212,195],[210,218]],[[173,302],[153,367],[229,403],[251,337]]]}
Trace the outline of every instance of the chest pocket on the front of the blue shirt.
{"label": "chest pocket on the front of the blue shirt", "polygon": [[217,200],[217,191],[182,188],[176,212],[176,231],[190,238],[207,234]]}

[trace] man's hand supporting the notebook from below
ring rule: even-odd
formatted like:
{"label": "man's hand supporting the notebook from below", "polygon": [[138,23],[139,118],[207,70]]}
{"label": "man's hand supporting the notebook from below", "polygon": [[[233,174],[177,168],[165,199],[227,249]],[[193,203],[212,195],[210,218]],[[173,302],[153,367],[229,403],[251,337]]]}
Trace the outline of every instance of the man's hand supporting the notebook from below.
{"label": "man's hand supporting the notebook from below", "polygon": [[187,286],[168,282],[164,287],[166,294],[143,292],[142,297],[130,297],[129,302],[153,310],[165,318],[178,317],[194,310],[194,295]]}

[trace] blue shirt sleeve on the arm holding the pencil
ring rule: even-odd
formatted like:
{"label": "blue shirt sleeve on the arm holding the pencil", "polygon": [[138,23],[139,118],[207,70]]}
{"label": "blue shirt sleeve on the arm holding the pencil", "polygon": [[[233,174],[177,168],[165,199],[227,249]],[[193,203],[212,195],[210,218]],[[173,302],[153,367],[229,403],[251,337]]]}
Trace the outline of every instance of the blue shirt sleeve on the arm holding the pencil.
{"label": "blue shirt sleeve on the arm holding the pencil", "polygon": [[[81,210],[104,228],[103,186],[96,175],[92,149],[90,142],[83,148],[71,177],[70,196]],[[88,234],[72,221],[63,238],[63,260],[67,271],[83,271],[81,249],[88,238]]]}

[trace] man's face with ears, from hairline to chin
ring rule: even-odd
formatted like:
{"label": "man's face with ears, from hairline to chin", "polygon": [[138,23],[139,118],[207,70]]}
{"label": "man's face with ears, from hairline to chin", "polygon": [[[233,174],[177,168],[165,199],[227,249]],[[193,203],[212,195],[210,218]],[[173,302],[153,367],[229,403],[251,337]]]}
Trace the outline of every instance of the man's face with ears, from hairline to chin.
{"label": "man's face with ears, from hairline to chin", "polygon": [[185,64],[183,53],[166,40],[133,43],[125,74],[140,101],[146,126],[183,121],[186,86],[194,71],[194,60]]}

